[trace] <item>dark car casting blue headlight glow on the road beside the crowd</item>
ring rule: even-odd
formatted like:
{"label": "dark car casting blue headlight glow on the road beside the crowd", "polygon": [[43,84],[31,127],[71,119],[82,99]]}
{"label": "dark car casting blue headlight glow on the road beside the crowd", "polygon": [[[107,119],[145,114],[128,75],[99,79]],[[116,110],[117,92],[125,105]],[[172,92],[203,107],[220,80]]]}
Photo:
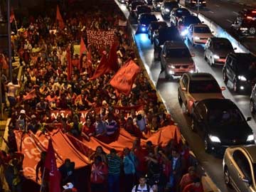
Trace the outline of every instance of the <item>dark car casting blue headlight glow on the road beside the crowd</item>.
{"label": "dark car casting blue headlight glow on the road beside the crowd", "polygon": [[136,33],[147,33],[149,24],[152,21],[158,21],[154,14],[140,14]]}

